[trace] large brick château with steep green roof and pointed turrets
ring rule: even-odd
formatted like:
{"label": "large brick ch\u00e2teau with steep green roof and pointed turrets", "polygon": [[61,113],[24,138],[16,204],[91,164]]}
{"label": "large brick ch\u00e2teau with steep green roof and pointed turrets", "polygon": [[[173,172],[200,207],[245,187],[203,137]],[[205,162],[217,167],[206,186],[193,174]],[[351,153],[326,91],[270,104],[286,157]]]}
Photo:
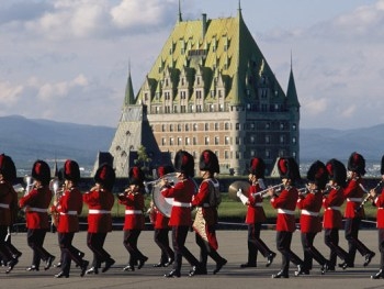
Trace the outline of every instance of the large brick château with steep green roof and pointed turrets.
{"label": "large brick ch\u00e2teau with steep green roof and pointed turrets", "polygon": [[[223,174],[247,174],[253,156],[264,159],[269,173],[280,156],[300,163],[300,102],[292,67],[285,93],[244,22],[240,5],[234,18],[211,20],[203,14],[189,21],[179,5],[177,23],[136,96],[131,81],[129,71],[118,124],[124,129],[117,127],[110,148],[116,168],[122,167],[123,151],[145,146],[151,137],[171,160],[185,149],[199,164],[201,152],[212,149]],[[132,111],[136,123],[150,127],[134,143],[127,133]],[[158,154],[154,149],[153,156]]]}

